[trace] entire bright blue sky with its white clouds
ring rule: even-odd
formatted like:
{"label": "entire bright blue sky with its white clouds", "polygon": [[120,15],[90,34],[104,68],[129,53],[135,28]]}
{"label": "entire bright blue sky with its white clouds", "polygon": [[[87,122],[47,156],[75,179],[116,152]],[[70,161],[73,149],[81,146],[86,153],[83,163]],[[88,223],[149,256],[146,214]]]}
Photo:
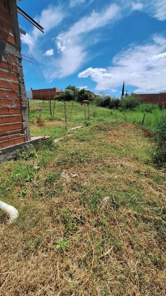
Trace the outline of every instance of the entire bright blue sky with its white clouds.
{"label": "entire bright blue sky with its white clouds", "polygon": [[[23,0],[18,15],[37,66],[23,61],[26,90],[71,84],[120,97],[166,89],[165,0]],[[22,54],[30,56],[22,41]]]}

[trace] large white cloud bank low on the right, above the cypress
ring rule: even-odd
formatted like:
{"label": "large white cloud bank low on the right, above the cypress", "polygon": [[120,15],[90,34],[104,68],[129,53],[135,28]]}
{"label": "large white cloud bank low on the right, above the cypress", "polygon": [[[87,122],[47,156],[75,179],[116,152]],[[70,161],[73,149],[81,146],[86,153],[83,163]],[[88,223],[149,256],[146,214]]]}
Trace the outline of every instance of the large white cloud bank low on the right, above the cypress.
{"label": "large white cloud bank low on the right, above the cypress", "polygon": [[[160,56],[166,51],[166,38],[158,36],[160,44],[155,42],[157,36],[152,37],[144,45],[132,45],[127,50],[119,52],[113,58],[113,67],[88,68],[78,74],[79,78],[90,76],[96,82],[96,91],[113,89],[123,85],[137,87],[135,92],[153,92],[162,87],[166,87],[165,77],[161,75],[165,70],[163,59],[152,60],[152,56]],[[161,45],[162,44],[162,45]],[[153,54],[153,55],[152,55]],[[108,79],[109,77],[109,79]]]}

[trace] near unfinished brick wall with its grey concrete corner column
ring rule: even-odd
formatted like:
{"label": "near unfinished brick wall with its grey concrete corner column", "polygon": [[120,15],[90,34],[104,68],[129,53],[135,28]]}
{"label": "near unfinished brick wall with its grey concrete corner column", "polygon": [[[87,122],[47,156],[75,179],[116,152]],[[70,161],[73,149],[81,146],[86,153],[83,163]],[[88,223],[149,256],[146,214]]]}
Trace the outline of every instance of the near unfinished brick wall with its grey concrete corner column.
{"label": "near unfinished brick wall with its grey concrete corner column", "polygon": [[0,0],[0,149],[29,140],[16,0]]}

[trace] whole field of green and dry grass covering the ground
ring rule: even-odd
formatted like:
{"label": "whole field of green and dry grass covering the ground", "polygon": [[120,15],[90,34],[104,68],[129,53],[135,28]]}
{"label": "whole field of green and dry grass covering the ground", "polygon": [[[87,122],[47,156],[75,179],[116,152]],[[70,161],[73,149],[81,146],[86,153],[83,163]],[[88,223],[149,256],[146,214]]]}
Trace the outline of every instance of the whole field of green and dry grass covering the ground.
{"label": "whole field of green and dry grass covering the ground", "polygon": [[[30,101],[31,136],[66,135],[63,103],[39,127],[42,104]],[[1,200],[19,212],[10,225],[0,212],[1,295],[165,295],[166,174],[152,134],[111,111],[90,106],[70,138],[0,165]],[[76,103],[71,121],[84,120]]]}

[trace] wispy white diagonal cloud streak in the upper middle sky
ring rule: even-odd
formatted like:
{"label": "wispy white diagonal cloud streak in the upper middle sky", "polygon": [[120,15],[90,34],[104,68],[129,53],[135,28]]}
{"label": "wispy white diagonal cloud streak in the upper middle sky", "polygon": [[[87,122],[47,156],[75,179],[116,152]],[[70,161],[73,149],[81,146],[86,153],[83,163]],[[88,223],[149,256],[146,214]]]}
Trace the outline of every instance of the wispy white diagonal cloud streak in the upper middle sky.
{"label": "wispy white diagonal cloud streak in the upper middle sky", "polygon": [[[88,60],[85,34],[99,27],[104,27],[108,23],[120,17],[120,8],[112,4],[100,12],[93,11],[89,16],[85,16],[70,27],[69,31],[62,32],[56,37],[58,47],[58,70],[53,70],[52,78],[65,77],[72,73]],[[92,44],[91,40],[91,44]],[[95,42],[95,41],[94,41]],[[49,75],[50,76],[50,75]]]}

